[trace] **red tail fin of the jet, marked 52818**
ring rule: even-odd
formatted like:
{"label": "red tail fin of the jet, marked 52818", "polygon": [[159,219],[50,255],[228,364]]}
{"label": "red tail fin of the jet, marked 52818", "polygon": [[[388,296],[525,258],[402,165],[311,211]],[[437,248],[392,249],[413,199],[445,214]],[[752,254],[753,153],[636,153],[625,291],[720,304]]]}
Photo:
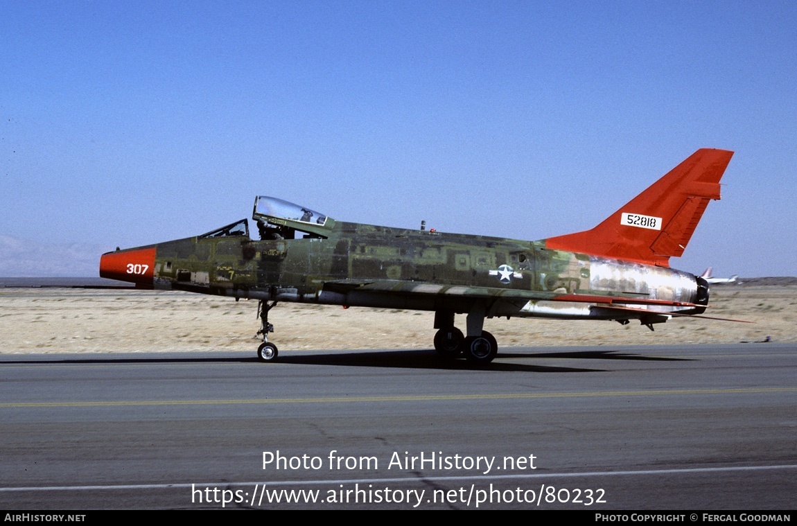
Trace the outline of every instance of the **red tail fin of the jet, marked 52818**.
{"label": "red tail fin of the jet, marked 52818", "polygon": [[709,201],[720,198],[720,179],[732,155],[698,150],[594,229],[548,237],[546,246],[669,266],[670,257],[684,252]]}

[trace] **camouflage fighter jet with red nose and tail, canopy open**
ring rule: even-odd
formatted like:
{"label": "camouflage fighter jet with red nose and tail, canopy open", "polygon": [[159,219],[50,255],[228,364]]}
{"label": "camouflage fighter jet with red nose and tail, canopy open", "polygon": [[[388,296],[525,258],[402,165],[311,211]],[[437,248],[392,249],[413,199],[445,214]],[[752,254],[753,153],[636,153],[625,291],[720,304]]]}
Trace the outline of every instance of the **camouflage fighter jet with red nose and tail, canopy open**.
{"label": "camouflage fighter jet with red nose and tail, canopy open", "polygon": [[[709,303],[703,277],[669,268],[697,227],[732,151],[701,149],[591,230],[520,241],[339,221],[278,198],[252,219],[100,260],[100,276],[150,289],[259,300],[257,356],[277,359],[269,311],[278,302],[434,312],[446,359],[491,362],[494,316],[639,320],[653,330]],[[465,315],[465,332],[456,327]],[[705,316],[700,316],[705,317]]]}

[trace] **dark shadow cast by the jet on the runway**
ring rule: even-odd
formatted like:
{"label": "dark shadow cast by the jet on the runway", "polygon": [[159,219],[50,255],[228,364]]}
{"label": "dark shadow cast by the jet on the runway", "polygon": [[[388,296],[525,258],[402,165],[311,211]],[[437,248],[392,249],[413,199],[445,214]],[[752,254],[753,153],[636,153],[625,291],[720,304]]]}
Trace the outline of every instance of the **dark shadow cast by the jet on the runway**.
{"label": "dark shadow cast by the jet on the runway", "polygon": [[[602,360],[650,360],[650,361],[687,361],[681,358],[662,358],[658,356],[638,355],[622,351],[561,351],[561,352],[512,352],[497,355],[498,359],[602,359]],[[80,359],[19,359],[3,360],[0,363],[10,364],[155,364],[155,363],[257,363],[256,357],[241,356],[208,356],[206,358],[175,357],[168,358],[80,358]],[[294,365],[332,365],[345,367],[396,367],[402,369],[439,369],[442,371],[516,371],[516,372],[609,372],[610,369],[585,367],[552,367],[527,363],[511,363],[494,361],[489,364],[473,364],[465,359],[442,359],[434,350],[395,350],[395,351],[333,351],[332,353],[305,352],[286,353],[281,355],[279,363]],[[263,367],[278,367],[270,363],[262,363]]]}

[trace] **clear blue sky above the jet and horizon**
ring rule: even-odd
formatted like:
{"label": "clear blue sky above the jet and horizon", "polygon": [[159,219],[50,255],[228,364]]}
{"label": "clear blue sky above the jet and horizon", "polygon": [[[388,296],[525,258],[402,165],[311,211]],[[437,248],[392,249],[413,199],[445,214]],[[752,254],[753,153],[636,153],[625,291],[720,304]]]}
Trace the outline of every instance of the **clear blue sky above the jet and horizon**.
{"label": "clear blue sky above the jet and horizon", "polygon": [[736,151],[677,269],[797,275],[795,2],[0,0],[0,235],[99,253],[257,194],[540,239]]}

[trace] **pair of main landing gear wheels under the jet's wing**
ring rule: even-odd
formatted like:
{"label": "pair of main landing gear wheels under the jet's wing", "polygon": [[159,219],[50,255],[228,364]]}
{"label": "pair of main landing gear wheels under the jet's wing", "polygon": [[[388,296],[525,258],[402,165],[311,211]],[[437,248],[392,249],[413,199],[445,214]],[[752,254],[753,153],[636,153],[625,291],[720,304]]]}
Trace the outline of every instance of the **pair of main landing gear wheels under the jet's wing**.
{"label": "pair of main landing gear wheels under the jet's wing", "polygon": [[474,308],[468,314],[468,336],[453,326],[453,312],[438,311],[434,313],[434,349],[446,359],[456,359],[465,355],[469,362],[477,364],[490,363],[498,354],[498,343],[495,337],[482,330],[485,323],[484,309]]}

